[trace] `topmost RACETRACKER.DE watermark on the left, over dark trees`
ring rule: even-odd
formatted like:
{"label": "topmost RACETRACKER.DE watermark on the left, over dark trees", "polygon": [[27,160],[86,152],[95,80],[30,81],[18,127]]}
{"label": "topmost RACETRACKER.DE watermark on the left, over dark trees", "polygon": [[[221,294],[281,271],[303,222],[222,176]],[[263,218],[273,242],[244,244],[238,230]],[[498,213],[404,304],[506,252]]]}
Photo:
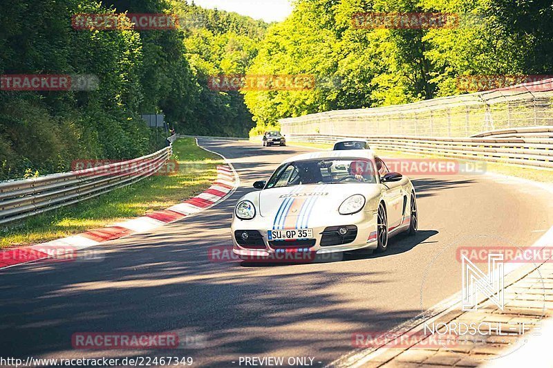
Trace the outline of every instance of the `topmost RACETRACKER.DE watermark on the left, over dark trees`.
{"label": "topmost RACETRACKER.DE watermark on the left, over dark trees", "polygon": [[79,13],[71,17],[71,26],[75,30],[176,30],[178,17],[155,13]]}

